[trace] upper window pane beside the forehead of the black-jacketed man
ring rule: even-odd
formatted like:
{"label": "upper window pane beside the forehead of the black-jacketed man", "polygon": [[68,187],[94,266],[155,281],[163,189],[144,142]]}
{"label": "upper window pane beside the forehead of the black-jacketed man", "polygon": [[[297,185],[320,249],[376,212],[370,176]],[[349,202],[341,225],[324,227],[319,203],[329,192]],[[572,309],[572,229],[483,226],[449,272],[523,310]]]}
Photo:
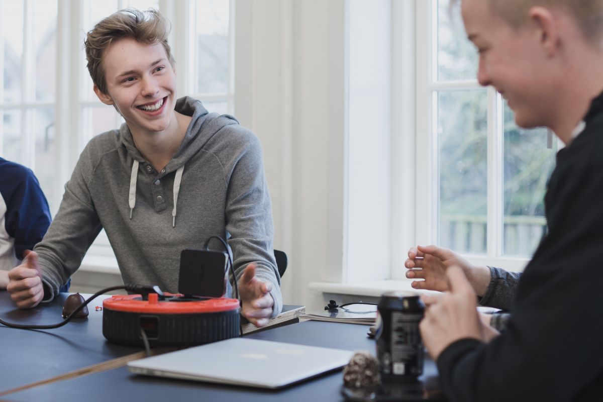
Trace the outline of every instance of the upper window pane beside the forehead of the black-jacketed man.
{"label": "upper window pane beside the forehead of the black-jacketed man", "polygon": [[450,9],[450,0],[437,0],[438,80],[475,80],[478,54],[466,39],[460,2]]}

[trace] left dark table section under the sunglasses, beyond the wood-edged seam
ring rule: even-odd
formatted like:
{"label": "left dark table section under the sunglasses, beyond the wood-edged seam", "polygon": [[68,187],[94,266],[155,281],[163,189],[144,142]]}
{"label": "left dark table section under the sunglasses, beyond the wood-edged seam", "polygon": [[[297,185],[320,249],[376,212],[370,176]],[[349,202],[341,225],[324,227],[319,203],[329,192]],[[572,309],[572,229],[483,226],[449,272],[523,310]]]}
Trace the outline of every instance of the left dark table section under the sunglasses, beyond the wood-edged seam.
{"label": "left dark table section under the sunglasses, beyond the wood-edged seam", "polygon": [[[0,317],[19,324],[55,324],[63,319],[63,302],[68,295],[60,294],[51,303],[21,310],[10,300],[8,292],[0,291]],[[90,302],[87,319],[73,319],[53,330],[21,330],[0,325],[0,393],[141,351],[106,341],[103,313],[94,308],[103,305],[103,298]]]}

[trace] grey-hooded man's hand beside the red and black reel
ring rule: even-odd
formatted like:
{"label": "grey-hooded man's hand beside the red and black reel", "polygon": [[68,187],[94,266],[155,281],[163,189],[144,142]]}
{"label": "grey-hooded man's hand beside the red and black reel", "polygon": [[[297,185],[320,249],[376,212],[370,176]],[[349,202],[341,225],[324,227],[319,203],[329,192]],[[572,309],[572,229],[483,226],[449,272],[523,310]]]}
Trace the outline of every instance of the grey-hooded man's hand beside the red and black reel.
{"label": "grey-hooded man's hand beside the red and black reel", "polygon": [[238,282],[241,295],[241,314],[256,327],[268,323],[272,315],[274,300],[270,295],[272,284],[256,278],[256,264],[250,263]]}

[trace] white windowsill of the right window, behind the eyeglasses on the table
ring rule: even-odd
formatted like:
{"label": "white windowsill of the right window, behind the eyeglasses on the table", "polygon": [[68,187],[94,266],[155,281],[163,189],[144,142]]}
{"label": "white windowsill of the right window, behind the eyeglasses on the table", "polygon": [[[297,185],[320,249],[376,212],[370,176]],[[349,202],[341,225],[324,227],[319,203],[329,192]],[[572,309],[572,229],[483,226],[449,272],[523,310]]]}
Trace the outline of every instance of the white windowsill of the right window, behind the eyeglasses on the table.
{"label": "white windowsill of the right window, behind the eyeglasses on the table", "polygon": [[323,293],[335,293],[342,295],[359,295],[380,297],[389,291],[408,291],[417,293],[439,293],[434,291],[421,291],[411,287],[411,280],[379,280],[356,283],[337,282],[311,282],[309,287],[312,291]]}

